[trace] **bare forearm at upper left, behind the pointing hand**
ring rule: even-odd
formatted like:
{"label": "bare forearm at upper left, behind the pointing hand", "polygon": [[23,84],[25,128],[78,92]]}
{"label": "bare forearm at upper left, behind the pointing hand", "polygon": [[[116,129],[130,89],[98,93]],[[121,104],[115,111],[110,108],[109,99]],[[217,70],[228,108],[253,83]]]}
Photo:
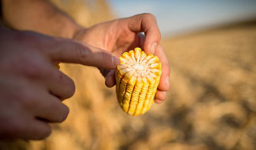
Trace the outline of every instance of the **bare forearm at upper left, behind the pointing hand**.
{"label": "bare forearm at upper left, behind the pointing hand", "polygon": [[47,0],[2,0],[3,20],[18,30],[72,38],[81,27]]}

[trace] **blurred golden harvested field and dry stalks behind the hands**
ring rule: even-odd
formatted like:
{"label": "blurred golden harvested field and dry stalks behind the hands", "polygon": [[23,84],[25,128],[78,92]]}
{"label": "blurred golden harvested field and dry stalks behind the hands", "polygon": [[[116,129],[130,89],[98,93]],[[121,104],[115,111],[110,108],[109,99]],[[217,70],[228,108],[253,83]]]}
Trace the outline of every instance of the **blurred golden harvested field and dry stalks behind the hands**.
{"label": "blurred golden harvested field and dry stalks behind the hands", "polygon": [[[53,0],[85,27],[115,18],[104,0]],[[171,26],[171,25],[170,25]],[[1,149],[256,149],[256,20],[162,40],[171,65],[163,104],[126,115],[94,67],[61,64],[76,84],[68,119],[42,141]]]}

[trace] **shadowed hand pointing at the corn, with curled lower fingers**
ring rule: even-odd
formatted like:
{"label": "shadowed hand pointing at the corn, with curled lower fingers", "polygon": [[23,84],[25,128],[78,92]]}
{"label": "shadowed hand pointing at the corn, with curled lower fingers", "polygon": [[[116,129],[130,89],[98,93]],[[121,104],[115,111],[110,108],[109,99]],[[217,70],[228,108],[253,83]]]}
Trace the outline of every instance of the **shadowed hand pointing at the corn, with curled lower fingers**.
{"label": "shadowed hand pointing at the corn, with curled lower fingers", "polygon": [[0,47],[0,138],[46,138],[51,134],[48,123],[66,119],[69,110],[61,101],[75,87],[55,64],[105,69],[119,64],[111,52],[88,44],[5,27],[0,27]]}

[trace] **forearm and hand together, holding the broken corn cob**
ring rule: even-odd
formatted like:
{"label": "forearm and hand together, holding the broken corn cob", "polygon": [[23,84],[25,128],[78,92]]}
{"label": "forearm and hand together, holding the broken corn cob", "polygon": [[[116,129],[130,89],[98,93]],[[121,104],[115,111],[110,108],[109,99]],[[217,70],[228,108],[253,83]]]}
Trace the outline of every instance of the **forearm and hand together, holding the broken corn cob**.
{"label": "forearm and hand together, holding the broken corn cob", "polygon": [[[121,55],[124,50],[131,50],[135,47],[143,48],[147,54],[157,55],[162,63],[162,76],[155,102],[160,103],[165,100],[169,90],[169,64],[159,44],[161,35],[156,18],[152,14],[138,14],[84,29],[48,0],[2,0],[2,2],[5,23],[14,29],[74,38],[113,52],[117,56]],[[140,32],[144,32],[145,36]],[[113,87],[115,85],[114,72],[100,70],[106,77],[106,86]]]}

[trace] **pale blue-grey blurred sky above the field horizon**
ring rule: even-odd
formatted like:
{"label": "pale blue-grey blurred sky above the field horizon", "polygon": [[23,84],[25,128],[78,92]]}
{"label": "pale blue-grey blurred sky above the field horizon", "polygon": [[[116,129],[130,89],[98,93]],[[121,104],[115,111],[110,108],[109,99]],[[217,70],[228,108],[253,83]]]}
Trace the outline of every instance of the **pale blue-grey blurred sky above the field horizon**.
{"label": "pale blue-grey blurred sky above the field horizon", "polygon": [[256,18],[256,0],[108,0],[119,18],[150,12],[162,35]]}

